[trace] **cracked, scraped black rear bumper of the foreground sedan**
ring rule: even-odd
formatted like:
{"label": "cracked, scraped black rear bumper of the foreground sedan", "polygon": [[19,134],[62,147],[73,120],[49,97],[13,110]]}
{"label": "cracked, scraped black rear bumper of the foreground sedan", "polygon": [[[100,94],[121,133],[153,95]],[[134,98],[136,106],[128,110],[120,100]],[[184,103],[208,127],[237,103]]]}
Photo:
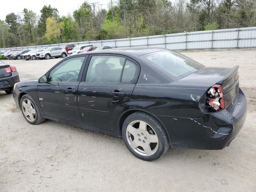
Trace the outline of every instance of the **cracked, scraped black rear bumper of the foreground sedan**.
{"label": "cracked, scraped black rear bumper of the foreground sedan", "polygon": [[200,118],[157,116],[166,127],[173,148],[219,150],[229,146],[246,120],[247,102],[239,89],[236,104]]}

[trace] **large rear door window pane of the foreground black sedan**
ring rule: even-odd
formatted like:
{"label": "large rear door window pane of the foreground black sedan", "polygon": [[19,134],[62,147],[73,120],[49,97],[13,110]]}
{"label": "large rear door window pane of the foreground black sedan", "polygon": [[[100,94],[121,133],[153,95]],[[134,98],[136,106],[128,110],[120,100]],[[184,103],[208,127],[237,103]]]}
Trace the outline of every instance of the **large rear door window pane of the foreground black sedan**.
{"label": "large rear door window pane of the foreground black sedan", "polygon": [[118,56],[92,56],[86,82],[120,82],[125,58]]}

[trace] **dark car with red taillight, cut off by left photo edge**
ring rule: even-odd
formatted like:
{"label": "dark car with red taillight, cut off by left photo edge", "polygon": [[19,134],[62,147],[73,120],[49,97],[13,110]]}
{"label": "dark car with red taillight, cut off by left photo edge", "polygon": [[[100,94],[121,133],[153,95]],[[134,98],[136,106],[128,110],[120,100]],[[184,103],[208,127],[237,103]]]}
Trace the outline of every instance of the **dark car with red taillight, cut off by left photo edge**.
{"label": "dark car with red taillight, cut off by left photo edge", "polygon": [[5,64],[0,61],[0,90],[11,94],[14,84],[20,81],[16,67]]}

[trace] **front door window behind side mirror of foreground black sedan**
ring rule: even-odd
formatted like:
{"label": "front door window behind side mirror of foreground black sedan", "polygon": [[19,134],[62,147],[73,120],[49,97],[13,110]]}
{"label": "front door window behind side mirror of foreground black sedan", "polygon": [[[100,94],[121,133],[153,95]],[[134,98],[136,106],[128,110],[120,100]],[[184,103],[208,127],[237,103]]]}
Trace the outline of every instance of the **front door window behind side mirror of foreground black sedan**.
{"label": "front door window behind side mirror of foreground black sedan", "polygon": [[77,82],[85,57],[65,60],[49,74],[48,82]]}

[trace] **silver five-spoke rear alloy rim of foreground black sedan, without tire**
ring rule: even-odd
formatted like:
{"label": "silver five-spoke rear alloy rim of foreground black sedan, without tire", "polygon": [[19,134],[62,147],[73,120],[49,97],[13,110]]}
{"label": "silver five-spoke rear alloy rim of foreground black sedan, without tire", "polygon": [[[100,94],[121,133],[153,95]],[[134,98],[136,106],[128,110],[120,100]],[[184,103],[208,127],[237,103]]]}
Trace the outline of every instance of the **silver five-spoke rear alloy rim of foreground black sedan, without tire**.
{"label": "silver five-spoke rear alloy rim of foreground black sedan, without tire", "polygon": [[151,156],[158,150],[158,136],[148,123],[142,120],[130,122],[126,129],[130,147],[142,156]]}

